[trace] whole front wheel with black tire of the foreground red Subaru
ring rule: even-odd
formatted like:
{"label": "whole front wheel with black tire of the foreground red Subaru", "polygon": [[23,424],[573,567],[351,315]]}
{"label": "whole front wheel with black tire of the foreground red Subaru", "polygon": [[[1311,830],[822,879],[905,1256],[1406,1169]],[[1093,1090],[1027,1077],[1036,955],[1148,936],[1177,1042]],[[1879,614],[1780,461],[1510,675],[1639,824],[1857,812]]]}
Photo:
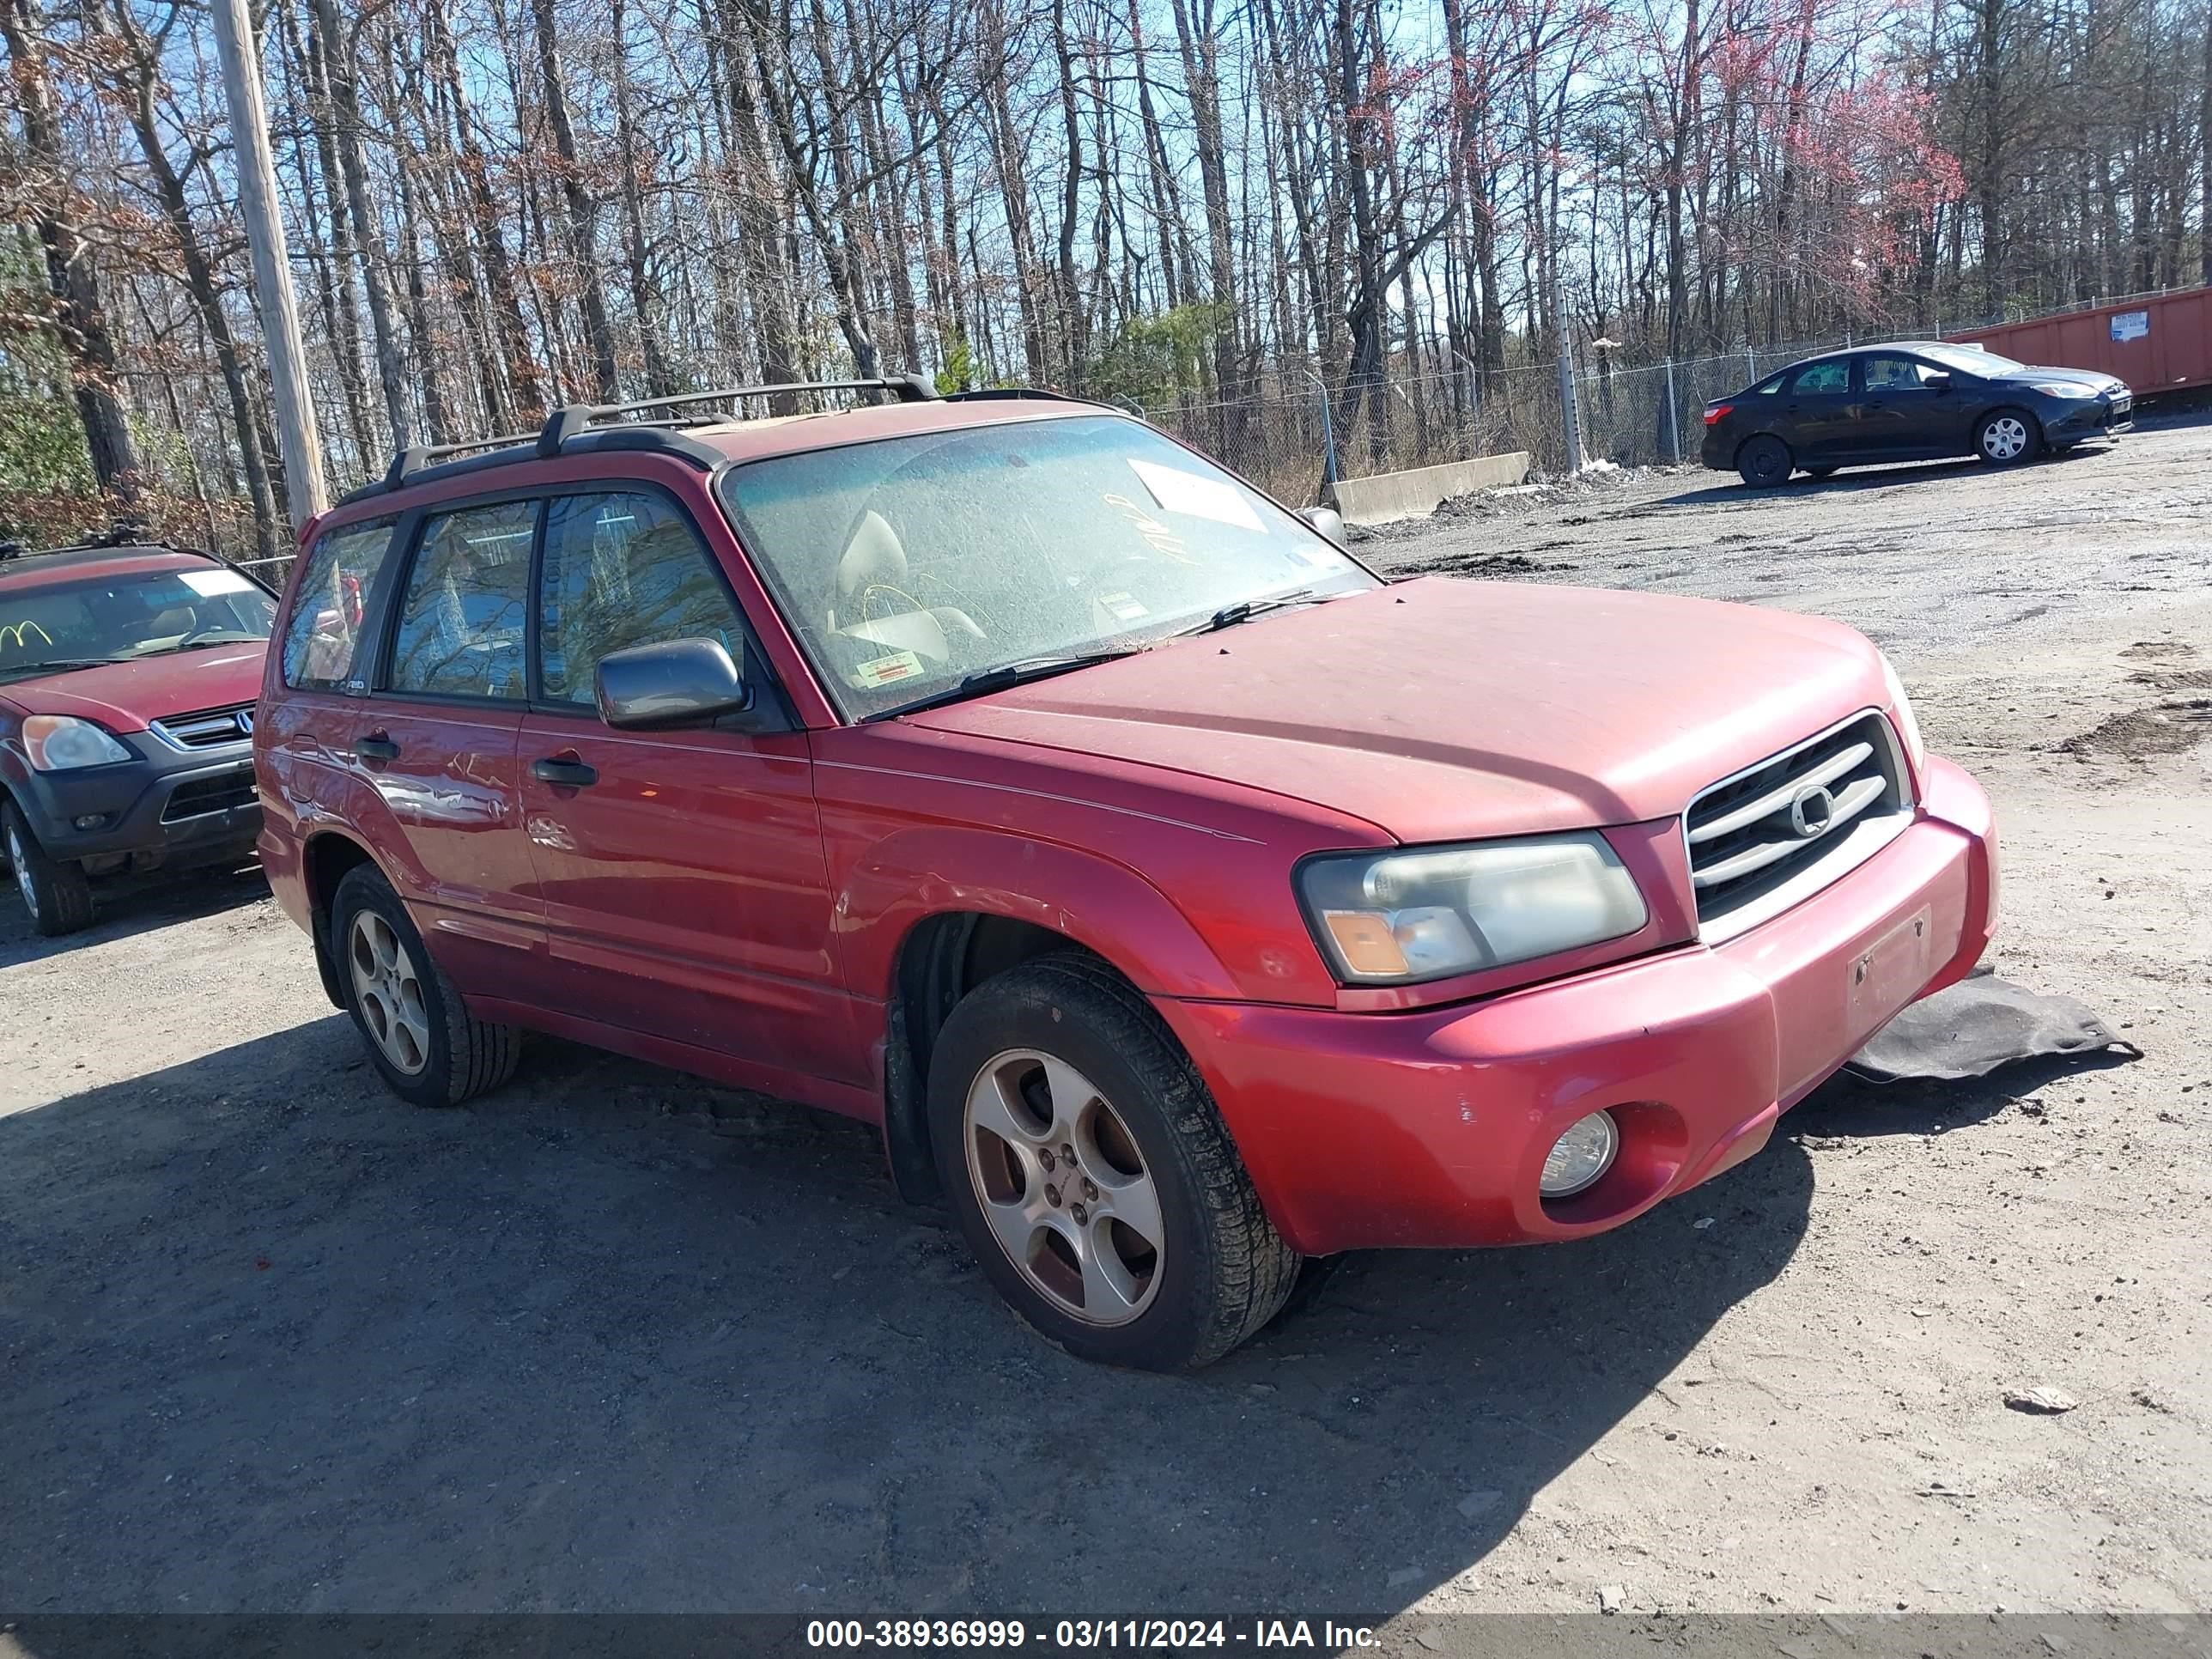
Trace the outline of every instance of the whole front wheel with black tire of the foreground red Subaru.
{"label": "whole front wheel with black tire of the foreground red Subaru", "polygon": [[953,1009],[929,1130],[984,1276],[1077,1358],[1210,1365],[1296,1283],[1197,1066],[1097,958],[1035,958]]}

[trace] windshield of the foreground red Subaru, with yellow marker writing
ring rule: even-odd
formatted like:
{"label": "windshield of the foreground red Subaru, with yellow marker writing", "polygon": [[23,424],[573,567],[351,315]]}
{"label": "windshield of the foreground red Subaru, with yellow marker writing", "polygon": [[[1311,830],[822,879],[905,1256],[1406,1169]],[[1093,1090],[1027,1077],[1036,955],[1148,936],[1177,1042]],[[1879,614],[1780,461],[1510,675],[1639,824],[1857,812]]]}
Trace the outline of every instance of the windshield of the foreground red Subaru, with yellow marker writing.
{"label": "windshield of the foreground red Subaru, with yellow marker writing", "polygon": [[1015,664],[1141,648],[1241,604],[1376,586],[1303,520],[1117,416],[757,460],[721,495],[856,719]]}

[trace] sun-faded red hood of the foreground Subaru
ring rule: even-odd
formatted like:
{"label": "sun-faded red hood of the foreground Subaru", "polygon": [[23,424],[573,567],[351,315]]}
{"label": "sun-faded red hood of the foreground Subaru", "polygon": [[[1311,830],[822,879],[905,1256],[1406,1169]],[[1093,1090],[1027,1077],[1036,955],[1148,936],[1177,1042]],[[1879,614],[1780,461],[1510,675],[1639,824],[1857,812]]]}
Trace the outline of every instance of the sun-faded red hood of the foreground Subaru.
{"label": "sun-faded red hood of the foreground Subaru", "polygon": [[1834,622],[1425,577],[909,719],[1451,841],[1668,818],[1885,701],[1874,646]]}

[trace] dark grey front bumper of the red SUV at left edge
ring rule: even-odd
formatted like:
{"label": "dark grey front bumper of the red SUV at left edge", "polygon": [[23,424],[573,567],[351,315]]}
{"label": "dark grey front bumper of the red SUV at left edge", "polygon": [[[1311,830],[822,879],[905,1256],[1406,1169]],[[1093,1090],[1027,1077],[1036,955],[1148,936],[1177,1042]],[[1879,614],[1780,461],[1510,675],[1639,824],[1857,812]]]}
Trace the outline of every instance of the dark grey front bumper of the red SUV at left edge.
{"label": "dark grey front bumper of the red SUV at left edge", "polygon": [[[146,732],[117,739],[133,752],[113,765],[11,774],[31,832],[53,858],[100,865],[188,863],[250,847],[261,832],[248,743],[170,752]],[[97,823],[80,830],[80,818]]]}

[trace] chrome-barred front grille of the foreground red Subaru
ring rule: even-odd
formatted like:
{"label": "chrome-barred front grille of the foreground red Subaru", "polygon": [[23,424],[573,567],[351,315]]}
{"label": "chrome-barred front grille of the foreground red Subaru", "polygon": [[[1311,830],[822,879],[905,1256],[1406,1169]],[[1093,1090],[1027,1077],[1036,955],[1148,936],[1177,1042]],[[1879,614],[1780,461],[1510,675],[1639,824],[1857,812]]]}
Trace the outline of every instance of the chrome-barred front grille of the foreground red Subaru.
{"label": "chrome-barred front grille of the foreground red Subaru", "polygon": [[1869,852],[1911,812],[1905,768],[1880,714],[1858,714],[1772,761],[1723,779],[1690,803],[1690,883],[1697,918],[1736,916],[1781,887],[1840,876],[1851,847]]}

